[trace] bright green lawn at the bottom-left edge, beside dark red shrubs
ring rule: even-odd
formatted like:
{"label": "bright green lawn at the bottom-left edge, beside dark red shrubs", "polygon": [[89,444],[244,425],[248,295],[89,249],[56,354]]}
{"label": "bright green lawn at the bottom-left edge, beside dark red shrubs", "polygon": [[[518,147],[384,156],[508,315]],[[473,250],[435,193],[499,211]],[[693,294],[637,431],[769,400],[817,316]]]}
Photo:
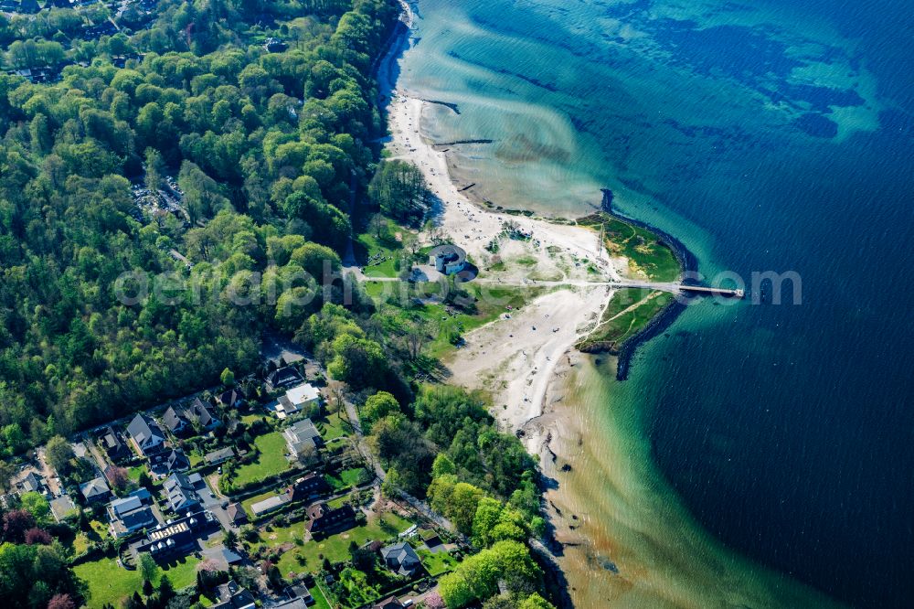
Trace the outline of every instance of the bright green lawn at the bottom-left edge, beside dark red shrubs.
{"label": "bright green lawn at the bottom-left edge, beside dark red shrubs", "polygon": [[[176,590],[185,588],[197,581],[197,564],[199,559],[187,556],[180,562],[172,562],[159,570],[154,584],[158,584],[163,574],[168,576]],[[121,606],[121,599],[133,594],[143,587],[139,571],[127,571],[117,565],[112,558],[100,561],[84,562],[73,567],[77,577],[89,585],[90,598],[86,606],[101,607],[103,604]]]}

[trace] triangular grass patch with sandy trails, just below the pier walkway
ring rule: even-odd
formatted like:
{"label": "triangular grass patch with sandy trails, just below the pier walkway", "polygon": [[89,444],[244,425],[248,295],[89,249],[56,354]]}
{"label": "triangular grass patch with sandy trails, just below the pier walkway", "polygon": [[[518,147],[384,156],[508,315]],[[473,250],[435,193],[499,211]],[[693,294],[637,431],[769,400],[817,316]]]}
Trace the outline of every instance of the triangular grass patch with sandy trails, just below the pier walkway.
{"label": "triangular grass patch with sandy trails, just below the pier walkway", "polygon": [[672,300],[672,294],[651,290],[626,288],[617,291],[603,312],[600,325],[578,348],[617,352],[625,340],[640,332]]}

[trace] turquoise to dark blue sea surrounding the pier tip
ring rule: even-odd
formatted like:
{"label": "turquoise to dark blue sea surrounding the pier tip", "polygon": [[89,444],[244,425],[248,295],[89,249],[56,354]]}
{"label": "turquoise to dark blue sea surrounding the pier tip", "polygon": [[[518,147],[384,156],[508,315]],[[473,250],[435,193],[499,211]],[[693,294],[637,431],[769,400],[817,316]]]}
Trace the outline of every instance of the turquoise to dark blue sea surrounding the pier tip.
{"label": "turquoise to dark blue sea surrounding the pier tip", "polygon": [[494,140],[459,157],[484,197],[574,215],[608,187],[709,278],[802,277],[800,304],[690,307],[608,392],[729,548],[910,606],[914,3],[418,7],[399,88],[458,104],[441,141]]}

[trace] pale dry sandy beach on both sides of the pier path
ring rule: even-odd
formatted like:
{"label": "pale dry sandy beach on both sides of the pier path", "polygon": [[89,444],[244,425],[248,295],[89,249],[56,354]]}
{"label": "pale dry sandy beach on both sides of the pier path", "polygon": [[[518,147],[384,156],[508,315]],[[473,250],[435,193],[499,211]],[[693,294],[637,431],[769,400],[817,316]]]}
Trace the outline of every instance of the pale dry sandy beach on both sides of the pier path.
{"label": "pale dry sandy beach on both sides of the pier path", "polygon": [[[543,412],[556,369],[574,345],[595,325],[611,298],[600,285],[620,277],[624,259],[611,259],[600,250],[593,230],[545,219],[497,213],[476,204],[448,172],[448,155],[421,133],[428,102],[396,95],[388,121],[392,158],[419,166],[431,191],[439,198],[435,221],[441,233],[465,249],[480,267],[476,281],[513,285],[537,294],[517,311],[505,311],[494,322],[464,338],[466,346],[452,356],[451,382],[490,393],[494,415],[505,431],[524,429]],[[530,240],[502,237],[497,254],[486,245],[499,237],[505,224],[515,223]],[[497,271],[487,271],[496,267]],[[459,363],[459,365],[457,365]],[[527,448],[538,452],[539,438],[530,434]]]}

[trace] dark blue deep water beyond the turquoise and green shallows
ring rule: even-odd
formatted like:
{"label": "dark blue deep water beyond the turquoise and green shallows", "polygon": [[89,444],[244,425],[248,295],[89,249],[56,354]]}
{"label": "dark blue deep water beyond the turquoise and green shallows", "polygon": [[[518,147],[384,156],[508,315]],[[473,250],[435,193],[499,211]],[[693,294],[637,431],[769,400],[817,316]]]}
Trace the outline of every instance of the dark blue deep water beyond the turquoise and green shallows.
{"label": "dark blue deep water beyond the turquoise and green shallows", "polygon": [[[721,540],[850,604],[910,607],[914,3],[796,10],[859,39],[885,101],[878,129],[834,142],[828,106],[854,91],[771,91],[808,102],[795,125],[811,137],[759,138],[751,154],[734,144],[724,155],[749,177],[686,180],[662,200],[713,235],[727,268],[799,272],[802,305],[746,306],[678,337],[674,326],[658,346],[671,357],[632,380],[667,379],[656,457]],[[669,33],[696,69],[749,80],[788,69],[747,32]]]}

